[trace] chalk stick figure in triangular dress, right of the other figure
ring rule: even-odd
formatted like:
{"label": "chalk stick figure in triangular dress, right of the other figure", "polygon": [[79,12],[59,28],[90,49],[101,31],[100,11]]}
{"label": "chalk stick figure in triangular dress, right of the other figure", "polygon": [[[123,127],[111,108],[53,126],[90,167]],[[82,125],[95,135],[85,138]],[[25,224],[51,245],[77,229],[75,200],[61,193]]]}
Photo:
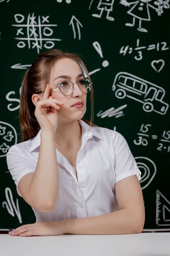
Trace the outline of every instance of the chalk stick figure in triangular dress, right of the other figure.
{"label": "chalk stick figure in triangular dress, right of the other figure", "polygon": [[[148,32],[147,29],[141,27],[141,21],[142,20],[147,20],[150,21],[150,11],[149,7],[152,9],[155,9],[157,11],[158,15],[160,16],[161,13],[163,13],[163,10],[153,6],[152,4],[149,4],[152,0],[138,0],[135,2],[127,2],[126,0],[120,0],[120,4],[123,4],[125,6],[130,6],[133,4],[132,8],[127,12],[128,14],[133,16],[133,21],[132,23],[126,23],[125,25],[128,27],[133,27],[135,25],[135,19],[139,20],[139,27],[137,30],[141,32]],[[155,3],[155,2],[154,2]]]}

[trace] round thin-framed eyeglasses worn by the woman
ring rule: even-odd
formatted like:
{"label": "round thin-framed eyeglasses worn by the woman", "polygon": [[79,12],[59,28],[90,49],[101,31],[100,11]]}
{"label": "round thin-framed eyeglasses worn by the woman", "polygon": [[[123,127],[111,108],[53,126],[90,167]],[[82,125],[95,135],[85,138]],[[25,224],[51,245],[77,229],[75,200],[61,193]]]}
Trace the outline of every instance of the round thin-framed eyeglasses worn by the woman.
{"label": "round thin-framed eyeglasses worn by the woman", "polygon": [[[77,83],[77,85],[79,86],[79,89],[83,92],[83,93],[88,93],[91,91],[91,82],[89,81],[89,79],[87,78],[83,78],[80,79]],[[74,90],[74,84],[73,82],[69,81],[69,80],[64,80],[62,82],[59,83],[59,85],[55,88],[50,88],[50,90],[53,90],[53,92],[56,91],[57,88],[59,88],[60,92],[62,94],[64,94],[65,96],[70,96],[73,93]],[[41,92],[37,92],[37,94],[42,93]]]}

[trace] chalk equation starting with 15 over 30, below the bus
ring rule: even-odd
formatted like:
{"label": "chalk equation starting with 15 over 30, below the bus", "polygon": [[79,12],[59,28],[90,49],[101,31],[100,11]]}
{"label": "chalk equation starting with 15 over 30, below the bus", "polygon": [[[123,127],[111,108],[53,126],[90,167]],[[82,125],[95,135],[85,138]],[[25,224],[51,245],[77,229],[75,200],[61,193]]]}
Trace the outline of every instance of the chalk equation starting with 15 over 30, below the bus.
{"label": "chalk equation starting with 15 over 30, below the bus", "polygon": [[[150,135],[148,135],[149,128],[151,124],[142,124],[139,132],[137,133],[138,139],[134,139],[134,144],[137,146],[147,146],[148,139]],[[158,139],[157,135],[151,135],[152,139]],[[164,130],[162,133],[162,137],[157,146],[157,150],[162,151],[166,150],[167,153],[170,152],[170,130]]]}

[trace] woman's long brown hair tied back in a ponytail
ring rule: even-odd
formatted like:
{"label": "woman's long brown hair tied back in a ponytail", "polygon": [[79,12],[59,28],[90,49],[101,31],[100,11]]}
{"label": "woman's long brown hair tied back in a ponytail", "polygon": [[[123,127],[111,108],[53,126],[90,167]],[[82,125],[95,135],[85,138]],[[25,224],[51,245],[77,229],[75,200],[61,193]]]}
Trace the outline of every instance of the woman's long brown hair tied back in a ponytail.
{"label": "woman's long brown hair tied back in a ponytail", "polygon": [[[22,79],[21,96],[20,96],[20,127],[22,141],[32,139],[40,130],[40,125],[34,115],[35,106],[32,102],[32,95],[41,90],[45,90],[49,82],[51,70],[56,61],[60,58],[70,58],[74,60],[91,81],[88,71],[77,54],[63,52],[59,49],[51,49],[40,54],[26,71]],[[42,89],[43,83],[43,89]],[[91,84],[91,119],[88,122],[93,125],[93,86]],[[84,119],[83,119],[84,120]],[[85,120],[84,120],[85,121]]]}

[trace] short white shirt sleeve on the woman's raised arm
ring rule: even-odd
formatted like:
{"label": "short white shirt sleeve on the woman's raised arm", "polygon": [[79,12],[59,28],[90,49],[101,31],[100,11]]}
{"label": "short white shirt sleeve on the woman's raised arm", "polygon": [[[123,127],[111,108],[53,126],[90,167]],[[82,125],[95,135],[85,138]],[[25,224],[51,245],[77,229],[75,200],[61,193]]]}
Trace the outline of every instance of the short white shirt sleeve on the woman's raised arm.
{"label": "short white shirt sleeve on the woman's raised arm", "polygon": [[33,161],[27,152],[17,145],[14,145],[7,153],[7,165],[15,185],[17,186],[17,193],[22,196],[18,190],[18,183],[24,175],[35,171]]}

